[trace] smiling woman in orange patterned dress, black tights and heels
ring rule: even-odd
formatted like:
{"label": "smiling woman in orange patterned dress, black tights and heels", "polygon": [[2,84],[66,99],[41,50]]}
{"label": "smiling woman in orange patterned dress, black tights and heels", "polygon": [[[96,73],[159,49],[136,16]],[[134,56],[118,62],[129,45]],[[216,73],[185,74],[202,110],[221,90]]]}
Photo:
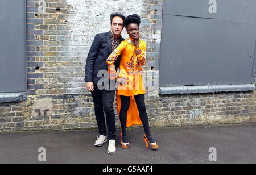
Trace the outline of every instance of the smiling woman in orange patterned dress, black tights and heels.
{"label": "smiling woman in orange patterned dress, black tights and heels", "polygon": [[[126,135],[126,127],[134,124],[143,124],[144,141],[150,142],[152,149],[157,149],[158,143],[151,136],[148,124],[148,116],[144,102],[145,89],[140,74],[141,66],[146,62],[146,43],[140,40],[139,25],[141,18],[137,15],[129,15],[125,19],[125,28],[129,38],[115,49],[107,59],[109,68],[109,78],[118,78],[115,71],[114,62],[119,55],[121,56],[120,73],[117,82],[117,107],[119,120],[121,123],[121,144],[122,148],[129,149],[130,143]],[[121,104],[120,104],[121,103]]]}

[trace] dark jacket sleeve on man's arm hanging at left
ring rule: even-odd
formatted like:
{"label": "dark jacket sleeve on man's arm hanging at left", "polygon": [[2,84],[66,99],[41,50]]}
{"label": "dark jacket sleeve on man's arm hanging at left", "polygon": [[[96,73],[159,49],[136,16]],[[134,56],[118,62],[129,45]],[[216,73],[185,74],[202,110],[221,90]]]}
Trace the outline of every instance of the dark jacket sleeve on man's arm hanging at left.
{"label": "dark jacket sleeve on man's arm hanging at left", "polygon": [[101,47],[101,38],[100,38],[100,35],[97,34],[93,40],[92,46],[90,47],[90,51],[88,53],[88,57],[86,60],[85,82],[93,81],[94,62],[96,60],[100,47]]}

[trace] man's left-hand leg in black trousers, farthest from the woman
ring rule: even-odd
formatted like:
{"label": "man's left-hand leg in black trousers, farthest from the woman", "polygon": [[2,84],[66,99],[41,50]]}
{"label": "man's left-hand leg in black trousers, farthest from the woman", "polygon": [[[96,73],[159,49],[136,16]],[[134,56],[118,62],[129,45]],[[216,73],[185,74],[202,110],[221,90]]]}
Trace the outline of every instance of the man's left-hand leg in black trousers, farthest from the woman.
{"label": "man's left-hand leg in black trousers, farthest from the woman", "polygon": [[94,84],[94,90],[92,92],[94,111],[98,124],[98,130],[100,135],[106,136],[106,125],[105,117],[103,113],[103,103],[102,103],[102,90],[98,89],[97,84]]}

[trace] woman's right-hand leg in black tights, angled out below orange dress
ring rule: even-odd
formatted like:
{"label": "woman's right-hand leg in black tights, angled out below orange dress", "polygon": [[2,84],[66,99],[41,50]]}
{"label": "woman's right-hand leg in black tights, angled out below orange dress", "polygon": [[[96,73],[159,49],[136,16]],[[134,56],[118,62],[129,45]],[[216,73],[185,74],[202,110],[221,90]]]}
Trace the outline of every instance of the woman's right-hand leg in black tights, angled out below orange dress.
{"label": "woman's right-hand leg in black tights, angled out below orange dress", "polygon": [[150,127],[148,123],[148,116],[147,116],[146,105],[145,105],[145,94],[135,95],[134,99],[136,101],[137,108],[139,110],[139,117],[141,118],[145,134],[148,140],[150,141],[150,143],[155,143],[154,139],[151,137]]}

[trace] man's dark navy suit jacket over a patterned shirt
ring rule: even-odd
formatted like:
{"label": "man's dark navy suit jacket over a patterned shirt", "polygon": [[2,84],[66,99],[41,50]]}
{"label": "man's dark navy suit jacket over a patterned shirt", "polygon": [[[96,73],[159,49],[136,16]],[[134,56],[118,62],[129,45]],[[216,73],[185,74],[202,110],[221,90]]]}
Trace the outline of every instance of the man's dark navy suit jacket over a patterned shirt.
{"label": "man's dark navy suit jacket over a patterned shirt", "polygon": [[[120,43],[125,40],[121,37]],[[119,43],[119,44],[120,44]],[[98,83],[102,77],[98,77],[99,70],[108,71],[108,65],[106,64],[106,59],[112,53],[112,44],[110,39],[110,32],[97,34],[93,40],[92,47],[88,53],[85,66],[85,82],[93,82],[94,84]],[[120,58],[115,61],[115,70],[120,65]]]}

